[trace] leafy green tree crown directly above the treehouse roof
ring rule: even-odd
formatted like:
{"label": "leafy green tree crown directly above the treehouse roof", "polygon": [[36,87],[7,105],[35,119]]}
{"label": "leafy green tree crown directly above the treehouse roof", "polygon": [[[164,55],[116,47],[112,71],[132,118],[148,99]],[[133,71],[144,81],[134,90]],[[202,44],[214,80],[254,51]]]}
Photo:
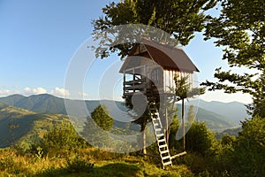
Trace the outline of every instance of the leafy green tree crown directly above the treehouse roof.
{"label": "leafy green tree crown directly above the treehouse roof", "polygon": [[[118,51],[118,55],[124,58],[132,48],[132,41],[115,46],[108,45],[113,42],[109,37],[106,38],[104,31],[111,27],[125,24],[143,24],[157,27],[168,33],[180,44],[186,45],[193,39],[194,32],[201,32],[204,28],[203,23],[207,20],[204,12],[216,5],[216,0],[124,0],[120,3],[110,3],[102,9],[104,15],[93,21],[95,39],[100,39],[100,46],[96,49],[96,56],[106,58],[110,53]],[[134,31],[139,33],[140,31]],[[113,32],[118,33],[117,31]],[[141,32],[140,32],[141,33]],[[142,34],[142,33],[141,33]],[[123,33],[124,38],[130,33]],[[137,36],[135,34],[135,36]],[[132,37],[132,36],[130,36]],[[129,38],[130,38],[129,37]],[[149,35],[148,38],[159,42],[168,42],[157,35]],[[120,39],[119,35],[114,41]],[[176,42],[176,41],[175,41]],[[175,45],[178,43],[175,43]]]}

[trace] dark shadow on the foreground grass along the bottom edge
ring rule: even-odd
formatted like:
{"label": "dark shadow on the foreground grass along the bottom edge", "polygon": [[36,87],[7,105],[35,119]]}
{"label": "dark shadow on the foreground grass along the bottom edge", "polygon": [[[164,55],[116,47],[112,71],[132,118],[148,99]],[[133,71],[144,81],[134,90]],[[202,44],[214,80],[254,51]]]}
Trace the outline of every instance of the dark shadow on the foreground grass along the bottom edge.
{"label": "dark shadow on the foreground grass along the bottom edge", "polygon": [[114,163],[102,166],[95,166],[90,170],[79,169],[78,171],[69,171],[67,168],[49,168],[43,170],[42,173],[36,174],[35,177],[52,177],[52,176],[96,176],[96,177],[130,177],[143,176],[143,172],[137,165],[125,163]]}

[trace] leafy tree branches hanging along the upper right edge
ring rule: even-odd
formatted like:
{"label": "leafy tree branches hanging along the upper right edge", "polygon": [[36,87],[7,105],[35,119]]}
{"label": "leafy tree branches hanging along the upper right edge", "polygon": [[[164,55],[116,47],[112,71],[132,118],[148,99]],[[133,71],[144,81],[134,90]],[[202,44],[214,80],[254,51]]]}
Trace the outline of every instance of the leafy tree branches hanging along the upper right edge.
{"label": "leafy tree branches hanging along the upper right edge", "polygon": [[209,18],[205,39],[216,38],[222,46],[223,59],[231,68],[246,67],[250,73],[232,73],[217,68],[217,82],[206,81],[209,90],[223,89],[225,93],[241,91],[253,96],[249,111],[265,117],[265,15],[263,0],[220,0],[221,14]]}

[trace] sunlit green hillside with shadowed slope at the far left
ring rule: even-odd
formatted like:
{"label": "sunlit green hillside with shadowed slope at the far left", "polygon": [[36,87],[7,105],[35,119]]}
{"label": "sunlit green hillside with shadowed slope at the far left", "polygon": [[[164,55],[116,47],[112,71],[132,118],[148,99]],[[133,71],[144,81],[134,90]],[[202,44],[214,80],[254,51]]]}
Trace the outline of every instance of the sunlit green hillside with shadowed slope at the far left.
{"label": "sunlit green hillside with shadowed slope at the far left", "polygon": [[36,113],[0,103],[0,148],[22,139],[33,140],[36,135],[42,136],[51,125],[63,119],[68,116]]}

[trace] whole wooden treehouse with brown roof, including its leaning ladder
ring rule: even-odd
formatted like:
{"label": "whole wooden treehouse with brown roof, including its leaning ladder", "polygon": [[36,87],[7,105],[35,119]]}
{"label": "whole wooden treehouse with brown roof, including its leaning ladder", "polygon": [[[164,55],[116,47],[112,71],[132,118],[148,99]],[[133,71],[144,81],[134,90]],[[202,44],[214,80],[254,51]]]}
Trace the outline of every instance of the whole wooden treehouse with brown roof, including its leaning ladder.
{"label": "whole wooden treehouse with brown roof, including its leaning ladder", "polygon": [[186,77],[189,82],[193,83],[193,73],[199,70],[184,50],[142,39],[141,43],[133,45],[119,72],[124,74],[123,96],[125,98],[137,94],[147,97],[162,165],[163,167],[172,165],[171,159],[177,158],[181,153],[170,156],[163,131],[164,127],[168,127],[163,123],[167,121],[164,120],[167,117],[162,115],[161,112],[164,111],[159,108],[166,109],[166,106],[161,106],[161,103],[166,103],[166,99],[175,95],[172,90],[175,88],[174,77],[176,75]]}

